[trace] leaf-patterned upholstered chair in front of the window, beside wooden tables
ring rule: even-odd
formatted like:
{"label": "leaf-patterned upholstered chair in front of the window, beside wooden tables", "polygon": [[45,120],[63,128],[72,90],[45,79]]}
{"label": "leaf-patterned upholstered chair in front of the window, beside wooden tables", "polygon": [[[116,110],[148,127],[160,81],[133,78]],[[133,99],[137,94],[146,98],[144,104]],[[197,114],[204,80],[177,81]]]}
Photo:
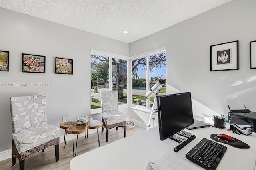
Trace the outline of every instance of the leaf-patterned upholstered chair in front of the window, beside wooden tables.
{"label": "leaf-patterned upholstered chair in front of the window, beside wooden tables", "polygon": [[102,131],[106,128],[106,142],[108,142],[108,129],[124,127],[124,137],[126,137],[126,115],[118,111],[118,91],[101,91],[102,105]]}

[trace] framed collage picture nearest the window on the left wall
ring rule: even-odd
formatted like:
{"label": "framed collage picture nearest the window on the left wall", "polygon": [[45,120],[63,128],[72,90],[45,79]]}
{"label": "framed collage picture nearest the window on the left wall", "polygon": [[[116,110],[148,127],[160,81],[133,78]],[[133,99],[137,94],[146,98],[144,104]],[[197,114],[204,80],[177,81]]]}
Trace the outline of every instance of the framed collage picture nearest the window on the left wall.
{"label": "framed collage picture nearest the window on the left wall", "polygon": [[73,60],[55,57],[56,74],[73,74]]}

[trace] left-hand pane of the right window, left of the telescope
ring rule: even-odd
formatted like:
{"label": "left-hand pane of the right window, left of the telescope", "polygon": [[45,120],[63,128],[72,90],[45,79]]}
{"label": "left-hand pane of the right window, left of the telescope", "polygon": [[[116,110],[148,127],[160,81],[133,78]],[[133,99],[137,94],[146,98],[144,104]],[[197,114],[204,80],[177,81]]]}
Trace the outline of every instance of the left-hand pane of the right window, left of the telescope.
{"label": "left-hand pane of the right window, left of the telescope", "polygon": [[132,104],[146,106],[146,58],[132,61]]}

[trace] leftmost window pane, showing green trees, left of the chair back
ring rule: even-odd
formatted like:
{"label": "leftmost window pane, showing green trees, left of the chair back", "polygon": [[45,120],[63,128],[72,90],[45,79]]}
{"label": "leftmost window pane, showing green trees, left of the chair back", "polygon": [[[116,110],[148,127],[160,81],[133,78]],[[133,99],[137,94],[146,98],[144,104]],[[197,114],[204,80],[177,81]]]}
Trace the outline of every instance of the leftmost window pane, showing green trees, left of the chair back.
{"label": "leftmost window pane, showing green trees, left of the chair back", "polygon": [[108,87],[109,58],[91,55],[91,109],[101,108],[100,91],[108,91]]}

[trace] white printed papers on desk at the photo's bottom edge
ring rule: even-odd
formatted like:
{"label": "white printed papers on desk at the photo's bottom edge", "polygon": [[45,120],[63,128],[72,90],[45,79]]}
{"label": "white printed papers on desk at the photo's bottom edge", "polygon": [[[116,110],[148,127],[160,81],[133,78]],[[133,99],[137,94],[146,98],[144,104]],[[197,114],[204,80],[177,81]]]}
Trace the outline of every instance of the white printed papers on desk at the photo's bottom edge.
{"label": "white printed papers on desk at the photo's bottom edge", "polygon": [[172,156],[171,154],[164,154],[158,160],[149,160],[147,170],[195,170],[198,169],[193,165]]}

